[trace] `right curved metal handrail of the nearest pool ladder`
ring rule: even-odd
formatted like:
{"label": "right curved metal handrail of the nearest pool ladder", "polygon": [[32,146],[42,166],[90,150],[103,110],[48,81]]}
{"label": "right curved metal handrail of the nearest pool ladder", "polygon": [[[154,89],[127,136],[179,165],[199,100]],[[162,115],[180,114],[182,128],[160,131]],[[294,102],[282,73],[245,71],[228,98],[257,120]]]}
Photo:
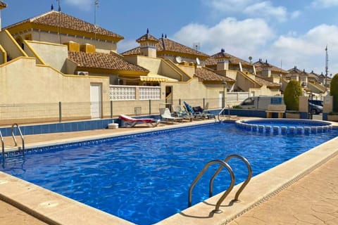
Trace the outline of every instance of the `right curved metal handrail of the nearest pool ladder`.
{"label": "right curved metal handrail of the nearest pool ladder", "polygon": [[[242,184],[242,186],[238,189],[236,195],[234,195],[234,201],[238,201],[239,194],[242,193],[243,189],[249,183],[249,181],[250,181],[250,179],[252,177],[252,168],[251,168],[251,165],[250,165],[249,161],[246,160],[246,158],[244,158],[241,155],[236,155],[236,154],[229,155],[229,156],[227,156],[227,158],[225,158],[224,162],[227,162],[227,161],[229,161],[232,158],[239,158],[240,160],[242,160],[243,162],[245,162],[246,167],[248,167],[248,176],[246,177],[246,180],[244,181],[244,183]],[[209,184],[209,197],[213,196],[213,181],[214,181],[215,177],[220,173],[220,171],[221,171],[222,168],[223,168],[223,166],[220,165],[220,167],[216,170],[215,174],[213,174],[213,176],[211,177],[210,184]]]}

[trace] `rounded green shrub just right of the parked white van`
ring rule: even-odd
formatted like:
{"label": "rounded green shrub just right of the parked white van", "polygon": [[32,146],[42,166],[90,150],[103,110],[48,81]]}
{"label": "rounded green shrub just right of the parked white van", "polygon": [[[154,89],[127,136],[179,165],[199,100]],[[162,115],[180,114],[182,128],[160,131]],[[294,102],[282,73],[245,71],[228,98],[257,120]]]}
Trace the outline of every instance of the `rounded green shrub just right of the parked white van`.
{"label": "rounded green shrub just right of the parked white van", "polygon": [[284,103],[287,105],[287,110],[299,110],[299,96],[302,96],[301,84],[292,79],[284,91]]}

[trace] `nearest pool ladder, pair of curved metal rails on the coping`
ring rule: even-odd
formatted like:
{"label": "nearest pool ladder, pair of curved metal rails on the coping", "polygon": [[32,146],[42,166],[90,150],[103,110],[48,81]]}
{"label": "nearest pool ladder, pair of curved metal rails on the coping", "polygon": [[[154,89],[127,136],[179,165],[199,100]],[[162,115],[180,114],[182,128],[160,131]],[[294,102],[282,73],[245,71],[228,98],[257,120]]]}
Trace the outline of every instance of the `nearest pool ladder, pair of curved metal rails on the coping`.
{"label": "nearest pool ladder, pair of curved metal rails on the coping", "polygon": [[218,202],[215,205],[215,210],[213,210],[213,212],[215,212],[215,213],[223,212],[222,210],[220,210],[220,204],[223,203],[223,200],[225,200],[227,195],[230,193],[230,191],[232,191],[232,188],[234,187],[234,172],[232,171],[232,168],[230,167],[230,165],[227,164],[227,161],[229,161],[232,158],[239,158],[240,160],[245,162],[246,167],[248,168],[248,176],[246,177],[246,180],[244,181],[242,186],[240,186],[240,188],[238,189],[237,193],[234,195],[234,200],[232,200],[232,202],[238,202],[239,201],[238,200],[239,194],[242,193],[243,189],[245,188],[245,186],[249,183],[249,181],[251,179],[252,169],[251,169],[251,165],[250,165],[249,161],[246,160],[246,158],[244,158],[241,155],[234,154],[234,155],[227,156],[227,158],[225,158],[225,160],[211,160],[210,162],[206,163],[204,168],[201,170],[201,172],[199,172],[199,174],[196,176],[196,178],[194,179],[194,181],[192,181],[192,184],[190,185],[189,197],[188,197],[188,207],[192,206],[192,190],[194,189],[194,186],[199,181],[199,179],[201,179],[201,176],[204,175],[204,173],[206,172],[208,167],[210,167],[211,165],[214,165],[214,164],[219,164],[220,167],[218,167],[218,169],[213,174],[213,176],[211,176],[211,179],[210,179],[210,182],[209,182],[209,198],[213,197],[213,181],[215,180],[215,177],[220,173],[220,171],[223,169],[223,167],[227,168],[228,172],[230,173],[230,177],[231,177],[230,186],[227,188],[227,191],[225,191],[225,193],[223,193],[223,195],[220,197],[220,199],[218,200]]}

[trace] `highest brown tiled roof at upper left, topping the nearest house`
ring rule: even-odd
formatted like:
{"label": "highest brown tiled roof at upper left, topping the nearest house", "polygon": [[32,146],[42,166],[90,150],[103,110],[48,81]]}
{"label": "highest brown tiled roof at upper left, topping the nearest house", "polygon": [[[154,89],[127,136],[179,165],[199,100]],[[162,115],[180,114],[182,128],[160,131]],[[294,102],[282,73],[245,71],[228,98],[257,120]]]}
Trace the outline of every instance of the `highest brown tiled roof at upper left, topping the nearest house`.
{"label": "highest brown tiled roof at upper left, topping the nearest house", "polygon": [[57,11],[50,11],[48,13],[44,13],[42,15],[38,15],[35,18],[30,18],[27,20],[23,20],[19,23],[15,23],[13,25],[10,25],[8,27],[4,27],[4,29],[9,29],[11,27],[15,27],[17,25],[20,25],[22,23],[32,23],[32,24],[39,24],[39,25],[48,25],[51,27],[61,27],[65,29],[70,30],[77,30],[81,32],[88,32],[88,33],[96,33],[96,34],[102,34],[108,37],[114,37],[116,39],[123,39],[122,36],[119,34],[115,34],[109,30],[106,30],[101,27],[96,27],[92,23],[87,23],[84,20],[80,20],[78,18],[75,18],[71,15],[67,15],[62,12]]}

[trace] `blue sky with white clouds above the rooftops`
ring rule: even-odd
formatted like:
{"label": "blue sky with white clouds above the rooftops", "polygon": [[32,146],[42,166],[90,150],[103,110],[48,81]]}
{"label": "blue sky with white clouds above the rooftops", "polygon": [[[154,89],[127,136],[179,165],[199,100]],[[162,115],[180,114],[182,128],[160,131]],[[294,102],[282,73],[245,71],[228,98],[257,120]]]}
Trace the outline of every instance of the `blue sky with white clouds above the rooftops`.
{"label": "blue sky with white clouds above the rooftops", "polygon": [[[2,25],[54,10],[94,23],[94,0],[3,0]],[[125,37],[118,52],[137,46],[146,33],[167,34],[209,55],[220,49],[244,60],[262,58],[289,70],[338,72],[338,0],[99,0],[96,24]]]}

